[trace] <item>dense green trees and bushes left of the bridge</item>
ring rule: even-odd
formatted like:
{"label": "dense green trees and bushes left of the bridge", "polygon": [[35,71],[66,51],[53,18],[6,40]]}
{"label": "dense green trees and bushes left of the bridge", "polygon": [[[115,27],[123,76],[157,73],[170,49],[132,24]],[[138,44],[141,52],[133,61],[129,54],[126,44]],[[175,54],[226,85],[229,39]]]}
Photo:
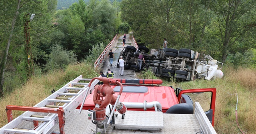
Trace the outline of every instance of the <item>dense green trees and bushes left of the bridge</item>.
{"label": "dense green trees and bushes left of the bridge", "polygon": [[[122,23],[119,2],[86,2],[77,0],[57,11],[57,0],[0,2],[1,97],[15,87],[4,82],[8,77],[18,79],[16,85],[23,84],[32,75],[65,69],[90,57],[94,45],[105,47],[112,40]],[[33,20],[29,20],[31,14],[35,14]]]}

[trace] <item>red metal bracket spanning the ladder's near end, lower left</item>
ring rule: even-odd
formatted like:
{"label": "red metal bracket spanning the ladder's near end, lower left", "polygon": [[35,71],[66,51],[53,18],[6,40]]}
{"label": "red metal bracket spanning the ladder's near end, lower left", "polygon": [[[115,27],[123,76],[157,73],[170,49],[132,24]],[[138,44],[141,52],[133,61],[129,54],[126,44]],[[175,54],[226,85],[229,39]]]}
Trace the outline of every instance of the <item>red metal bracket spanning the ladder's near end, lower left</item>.
{"label": "red metal bracket spanning the ladder's near end, lower left", "polygon": [[[42,108],[42,107],[31,107],[31,106],[8,105],[8,106],[6,106],[8,122],[13,120],[12,110],[31,111],[31,112],[48,112],[48,113],[58,114],[60,134],[65,134],[65,132],[64,132],[64,123],[65,123],[64,114],[65,114],[65,112],[62,107],[60,107],[60,108]],[[38,121],[34,122],[34,126],[36,125],[36,123],[38,124]]]}

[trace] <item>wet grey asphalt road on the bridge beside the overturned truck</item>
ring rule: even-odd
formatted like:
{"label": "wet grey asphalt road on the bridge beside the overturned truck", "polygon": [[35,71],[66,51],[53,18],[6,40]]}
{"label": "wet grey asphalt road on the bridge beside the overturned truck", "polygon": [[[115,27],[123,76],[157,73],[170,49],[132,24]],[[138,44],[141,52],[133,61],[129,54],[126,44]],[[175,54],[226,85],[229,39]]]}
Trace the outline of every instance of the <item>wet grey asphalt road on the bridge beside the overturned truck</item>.
{"label": "wet grey asphalt road on the bridge beside the overturned truck", "polygon": [[102,71],[104,72],[104,75],[106,75],[108,69],[112,70],[114,72],[114,78],[121,78],[121,79],[137,79],[136,78],[136,73],[134,70],[126,70],[124,69],[124,75],[120,76],[119,75],[119,67],[117,67],[118,63],[118,57],[120,55],[120,52],[126,47],[127,45],[134,45],[132,43],[132,35],[126,34],[126,45],[122,45],[122,39],[123,35],[120,36],[114,46],[112,47],[112,51],[114,53],[114,58],[113,58],[113,63],[112,66],[110,66],[110,61],[109,59],[106,59],[106,61],[103,63]]}

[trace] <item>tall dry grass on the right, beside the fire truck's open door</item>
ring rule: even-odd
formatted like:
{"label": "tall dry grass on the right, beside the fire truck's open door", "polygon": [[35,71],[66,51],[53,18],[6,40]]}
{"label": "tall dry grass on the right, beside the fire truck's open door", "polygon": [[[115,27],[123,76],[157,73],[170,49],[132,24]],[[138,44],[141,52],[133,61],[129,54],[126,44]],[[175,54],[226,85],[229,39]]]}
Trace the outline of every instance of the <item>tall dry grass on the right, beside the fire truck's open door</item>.
{"label": "tall dry grass on the right, beside the fire truck's open door", "polygon": [[[138,75],[143,79],[145,75]],[[150,76],[150,75],[149,75]],[[163,81],[163,85],[186,89],[216,88],[216,107],[214,128],[218,134],[240,134],[236,124],[236,94],[238,95],[238,123],[246,134],[256,134],[256,70],[226,69],[224,78],[214,81],[197,79],[196,81],[177,83]]]}

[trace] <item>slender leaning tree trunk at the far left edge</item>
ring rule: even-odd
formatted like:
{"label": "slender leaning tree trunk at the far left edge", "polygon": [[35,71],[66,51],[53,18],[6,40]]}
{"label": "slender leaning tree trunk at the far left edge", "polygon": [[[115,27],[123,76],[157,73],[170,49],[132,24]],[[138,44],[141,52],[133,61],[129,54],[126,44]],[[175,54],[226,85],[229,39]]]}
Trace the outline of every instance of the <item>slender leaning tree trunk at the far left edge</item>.
{"label": "slender leaning tree trunk at the far left edge", "polygon": [[18,0],[17,10],[16,10],[16,14],[14,15],[14,18],[12,19],[12,27],[11,27],[10,36],[9,36],[9,39],[8,39],[8,42],[7,42],[7,45],[6,45],[6,50],[5,50],[5,53],[4,53],[4,58],[3,58],[3,60],[2,60],[2,62],[0,64],[1,65],[1,72],[0,72],[0,80],[1,80],[1,83],[0,83],[0,97],[4,96],[5,65],[6,65],[6,61],[7,61],[7,57],[8,57],[8,51],[9,51],[9,47],[10,47],[10,43],[11,43],[11,39],[12,39],[12,33],[13,33],[13,30],[14,30],[14,25],[15,25],[15,22],[16,22],[17,15],[19,14],[20,1],[21,0]]}

